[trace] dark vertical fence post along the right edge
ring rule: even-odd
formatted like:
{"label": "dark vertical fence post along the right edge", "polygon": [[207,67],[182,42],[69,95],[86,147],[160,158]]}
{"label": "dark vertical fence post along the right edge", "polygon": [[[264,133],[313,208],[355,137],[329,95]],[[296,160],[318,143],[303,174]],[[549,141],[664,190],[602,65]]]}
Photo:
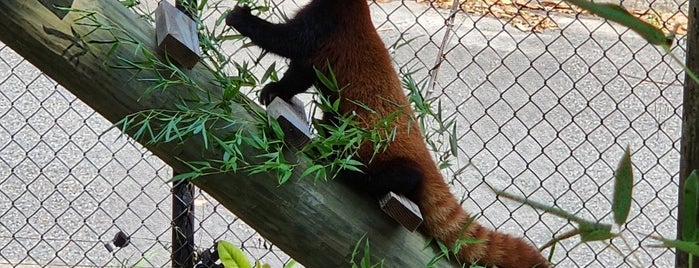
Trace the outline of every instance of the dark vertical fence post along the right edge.
{"label": "dark vertical fence post along the right edge", "polygon": [[[687,58],[685,64],[693,72],[699,71],[699,24],[697,12],[699,3],[689,1],[689,24],[687,26]],[[680,149],[680,187],[678,193],[677,238],[682,237],[682,206],[684,205],[684,182],[692,172],[699,169],[699,85],[688,75],[684,78],[684,99],[682,102],[682,141]],[[696,219],[699,221],[699,219]],[[694,258],[693,267],[699,267],[699,257]],[[677,250],[675,267],[689,267],[687,253]]]}

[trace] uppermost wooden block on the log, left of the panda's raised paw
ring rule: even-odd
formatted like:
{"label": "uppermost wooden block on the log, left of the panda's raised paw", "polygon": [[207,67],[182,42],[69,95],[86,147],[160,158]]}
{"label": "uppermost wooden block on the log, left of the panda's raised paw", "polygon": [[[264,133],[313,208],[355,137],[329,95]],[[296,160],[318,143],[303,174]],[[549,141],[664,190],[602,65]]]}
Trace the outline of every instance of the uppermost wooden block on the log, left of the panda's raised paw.
{"label": "uppermost wooden block on the log, left of the panda's raised paw", "polygon": [[201,58],[197,25],[168,1],[155,9],[155,36],[158,47],[182,67],[192,69]]}

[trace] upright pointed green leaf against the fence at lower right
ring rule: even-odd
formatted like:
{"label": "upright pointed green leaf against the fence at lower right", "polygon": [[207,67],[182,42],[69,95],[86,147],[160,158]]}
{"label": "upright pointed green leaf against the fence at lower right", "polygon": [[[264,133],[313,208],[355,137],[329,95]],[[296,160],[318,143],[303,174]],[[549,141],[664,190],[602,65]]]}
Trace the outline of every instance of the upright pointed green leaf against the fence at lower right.
{"label": "upright pointed green leaf against the fence at lower right", "polygon": [[633,189],[633,166],[631,164],[631,150],[628,146],[619,162],[619,167],[616,169],[614,179],[614,198],[612,200],[614,222],[623,225],[626,223],[631,209]]}

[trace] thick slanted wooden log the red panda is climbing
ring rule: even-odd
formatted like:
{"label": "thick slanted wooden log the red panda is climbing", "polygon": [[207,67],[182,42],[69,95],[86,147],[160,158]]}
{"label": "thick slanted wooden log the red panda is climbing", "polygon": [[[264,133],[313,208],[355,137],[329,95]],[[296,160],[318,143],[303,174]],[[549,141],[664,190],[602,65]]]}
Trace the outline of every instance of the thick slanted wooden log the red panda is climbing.
{"label": "thick slanted wooden log the red panda is climbing", "polygon": [[[142,48],[157,50],[153,27],[119,1],[75,0],[72,7],[96,12],[114,29],[139,41]],[[0,41],[111,122],[137,111],[172,109],[182,94],[193,94],[185,87],[173,86],[144,95],[151,84],[143,79],[154,78],[156,73],[110,67],[124,65],[118,58],[139,62],[145,60],[144,56],[135,55],[132,44],[125,43],[111,51],[111,44],[89,42],[110,40],[113,36],[103,30],[88,35],[93,28],[72,23],[82,15],[71,11],[60,18],[33,1],[3,0]],[[208,89],[211,98],[221,98],[221,90],[215,87],[213,76],[204,66],[198,64],[185,72],[201,88]],[[233,105],[231,109],[241,120],[255,120],[245,107]],[[235,131],[229,127],[217,134],[225,137]],[[178,172],[188,170],[177,158],[192,161],[222,157],[221,152],[205,150],[198,138],[187,139],[178,146],[144,146]],[[245,146],[241,150],[246,155],[260,153]],[[298,170],[296,177],[303,167]],[[381,212],[375,200],[339,182],[292,179],[280,187],[273,174],[244,172],[216,174],[192,182],[306,267],[347,267],[362,236],[371,242],[372,258],[382,259],[390,267],[422,267],[437,255],[434,249],[424,248],[424,237],[404,230]]]}

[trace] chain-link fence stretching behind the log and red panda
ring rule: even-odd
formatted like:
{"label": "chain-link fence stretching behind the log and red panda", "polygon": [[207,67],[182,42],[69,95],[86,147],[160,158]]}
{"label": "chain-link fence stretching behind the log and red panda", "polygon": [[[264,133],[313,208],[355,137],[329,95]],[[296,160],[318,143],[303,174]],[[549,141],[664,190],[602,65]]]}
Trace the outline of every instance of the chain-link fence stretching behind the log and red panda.
{"label": "chain-link fence stretching behind the log and red panda", "polygon": [[[272,3],[272,10],[293,14],[304,3]],[[686,29],[687,2],[623,4]],[[673,265],[674,252],[648,247],[644,236],[674,237],[677,222],[684,74],[660,48],[557,2],[473,1],[453,17],[439,1],[370,5],[396,68],[426,85],[457,122],[458,154],[444,173],[468,211],[537,245],[573,227],[497,199],[487,183],[612,222],[613,171],[629,146],[636,182],[627,228],[635,232],[624,233],[632,250],[622,251],[633,255],[615,252],[625,248],[619,239],[573,239],[553,260]],[[684,47],[679,35],[673,53],[684,58]],[[172,170],[110,127],[0,44],[0,265],[171,265]],[[193,202],[197,248],[227,240],[273,267],[290,260],[206,194],[196,191]],[[109,252],[104,244],[119,231],[130,244]]]}

